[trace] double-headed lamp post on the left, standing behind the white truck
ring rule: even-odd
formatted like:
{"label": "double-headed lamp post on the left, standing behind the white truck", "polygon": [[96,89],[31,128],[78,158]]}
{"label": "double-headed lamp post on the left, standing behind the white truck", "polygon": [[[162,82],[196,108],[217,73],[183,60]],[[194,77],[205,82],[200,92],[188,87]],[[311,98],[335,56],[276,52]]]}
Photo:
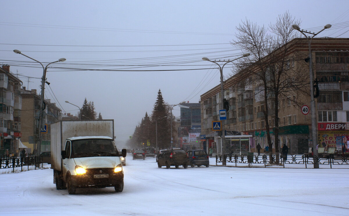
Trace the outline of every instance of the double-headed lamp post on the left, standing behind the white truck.
{"label": "double-headed lamp post on the left, standing behind the white truck", "polygon": [[[13,52],[17,53],[17,54],[21,54],[24,55],[23,53],[21,53],[21,51],[19,51],[18,49],[14,49]],[[61,58],[58,59],[58,61],[54,61],[51,62],[49,64],[46,65],[46,67],[44,67],[44,65],[39,62],[38,60],[35,60],[27,55],[24,55],[25,57],[28,57],[31,60],[34,60],[36,62],[38,62],[39,64],[41,64],[41,66],[43,67],[43,76],[41,78],[41,98],[40,98],[40,112],[39,112],[39,125],[38,125],[38,145],[37,145],[37,151],[36,151],[36,155],[40,156],[40,150],[41,150],[41,141],[42,141],[42,136],[41,136],[41,127],[42,127],[42,121],[43,121],[43,116],[44,116],[44,94],[45,94],[45,81],[46,81],[46,71],[47,71],[47,67],[49,67],[50,64],[52,63],[56,63],[56,62],[64,62],[66,59],[65,58]]]}

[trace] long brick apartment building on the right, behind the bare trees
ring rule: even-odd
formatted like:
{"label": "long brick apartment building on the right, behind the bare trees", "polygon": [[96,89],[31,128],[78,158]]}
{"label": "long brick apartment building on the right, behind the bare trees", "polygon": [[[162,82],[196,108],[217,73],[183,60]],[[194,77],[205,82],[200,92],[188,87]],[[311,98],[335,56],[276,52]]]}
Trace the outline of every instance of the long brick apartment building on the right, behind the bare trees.
{"label": "long brick apartment building on the right, behind the bare trees", "polygon": [[[308,54],[308,43],[305,38],[291,41],[289,48],[290,72],[304,74],[306,91],[304,94],[288,92],[287,97],[279,98],[279,147],[286,144],[291,154],[302,154],[312,146],[311,115],[302,114],[301,105],[310,107],[309,93],[309,64],[304,60]],[[318,82],[318,97],[315,99],[317,108],[318,137],[314,138],[322,147],[337,147],[341,150],[340,140],[349,139],[349,39],[347,38],[314,38],[312,40],[313,72]],[[293,59],[298,53],[298,59]],[[299,53],[304,59],[299,59]],[[268,56],[266,56],[268,57]],[[249,70],[257,70],[249,68]],[[248,72],[245,72],[245,76]],[[245,79],[245,78],[244,78]],[[218,77],[217,77],[218,80]],[[226,135],[239,134],[251,136],[250,148],[254,151],[259,143],[267,145],[265,122],[265,103],[263,91],[258,82],[241,82],[239,73],[230,77],[224,84],[224,99],[229,102],[229,111],[225,121]],[[201,126],[202,134],[206,134],[208,146],[215,147],[221,153],[221,138],[212,131],[212,121],[219,120],[218,111],[221,107],[220,85],[201,95]],[[273,144],[275,131],[275,98],[268,97],[268,124]],[[337,142],[336,142],[337,140]],[[227,149],[232,141],[226,140]],[[273,145],[273,151],[275,144]]]}

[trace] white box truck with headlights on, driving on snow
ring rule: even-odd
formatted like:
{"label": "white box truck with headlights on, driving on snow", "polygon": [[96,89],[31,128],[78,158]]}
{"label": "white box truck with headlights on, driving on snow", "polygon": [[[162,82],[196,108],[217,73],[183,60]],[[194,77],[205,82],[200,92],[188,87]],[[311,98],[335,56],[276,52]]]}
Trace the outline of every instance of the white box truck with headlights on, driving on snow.
{"label": "white box truck with headlights on, driving on snow", "polygon": [[62,120],[51,124],[51,169],[57,190],[124,188],[124,171],[114,143],[114,120]]}

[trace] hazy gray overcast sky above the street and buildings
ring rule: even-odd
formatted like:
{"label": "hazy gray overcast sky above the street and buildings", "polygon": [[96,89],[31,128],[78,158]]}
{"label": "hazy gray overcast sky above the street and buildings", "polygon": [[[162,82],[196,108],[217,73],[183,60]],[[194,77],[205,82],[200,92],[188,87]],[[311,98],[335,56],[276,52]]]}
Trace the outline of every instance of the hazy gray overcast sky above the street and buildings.
{"label": "hazy gray overcast sky above the street and buildings", "polygon": [[[214,65],[201,58],[239,56],[229,42],[242,20],[268,26],[287,10],[304,30],[333,25],[318,37],[349,37],[347,0],[2,1],[0,61],[39,92],[41,66],[13,49],[44,65],[66,58],[50,65],[66,69],[48,69],[45,98],[74,115],[77,108],[64,101],[79,107],[85,97],[94,101],[97,113],[115,119],[116,141],[122,142],[146,111],[151,114],[159,89],[169,104],[197,103],[220,84],[219,71],[205,69]],[[28,83],[24,76],[34,78]],[[179,108],[173,113],[179,116]]]}

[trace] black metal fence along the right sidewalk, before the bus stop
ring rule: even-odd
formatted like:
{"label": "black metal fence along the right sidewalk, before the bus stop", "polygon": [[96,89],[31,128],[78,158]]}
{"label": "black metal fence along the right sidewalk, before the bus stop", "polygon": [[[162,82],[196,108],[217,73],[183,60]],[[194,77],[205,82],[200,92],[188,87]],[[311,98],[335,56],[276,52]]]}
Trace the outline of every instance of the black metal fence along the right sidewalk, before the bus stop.
{"label": "black metal fence along the right sidewalk, before the bus stop", "polygon": [[[277,160],[278,159],[278,160]],[[329,155],[328,157],[313,157],[309,155],[287,155],[287,158],[272,155],[217,155],[216,165],[223,163],[234,165],[235,167],[275,167],[276,161],[279,161],[283,168],[313,168],[314,162],[319,164],[320,168],[346,168],[349,169],[349,155]]]}

